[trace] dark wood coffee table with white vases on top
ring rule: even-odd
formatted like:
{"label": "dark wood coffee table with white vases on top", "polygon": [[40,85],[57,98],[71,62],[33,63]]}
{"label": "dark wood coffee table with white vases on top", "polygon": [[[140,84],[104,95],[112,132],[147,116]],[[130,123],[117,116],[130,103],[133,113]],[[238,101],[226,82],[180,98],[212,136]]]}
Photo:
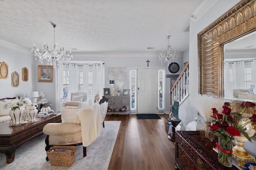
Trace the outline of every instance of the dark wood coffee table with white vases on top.
{"label": "dark wood coffee table with white vases on top", "polygon": [[[35,123],[28,123],[21,126],[10,127],[10,121],[0,124],[0,152],[6,155],[6,163],[14,161],[14,154],[22,144],[42,134],[44,125],[47,123],[61,122],[61,114],[41,117]],[[43,147],[43,146],[42,146]]]}

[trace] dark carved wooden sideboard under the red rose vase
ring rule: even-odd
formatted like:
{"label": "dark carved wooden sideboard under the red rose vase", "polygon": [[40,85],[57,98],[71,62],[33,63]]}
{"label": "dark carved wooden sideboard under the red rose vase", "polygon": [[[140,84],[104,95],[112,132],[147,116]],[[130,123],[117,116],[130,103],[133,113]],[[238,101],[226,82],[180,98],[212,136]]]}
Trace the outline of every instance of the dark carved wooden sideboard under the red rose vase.
{"label": "dark carved wooden sideboard under the red rose vase", "polygon": [[199,131],[176,131],[175,135],[175,163],[180,170],[238,170],[218,162],[216,147],[217,138],[212,142],[205,142]]}

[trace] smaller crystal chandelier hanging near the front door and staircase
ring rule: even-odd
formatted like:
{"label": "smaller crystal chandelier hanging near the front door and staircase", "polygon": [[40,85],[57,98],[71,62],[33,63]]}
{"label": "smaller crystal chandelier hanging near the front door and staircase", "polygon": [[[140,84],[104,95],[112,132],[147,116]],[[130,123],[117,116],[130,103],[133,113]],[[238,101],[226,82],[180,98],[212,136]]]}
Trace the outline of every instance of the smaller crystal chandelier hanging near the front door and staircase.
{"label": "smaller crystal chandelier hanging near the front door and staircase", "polygon": [[171,60],[177,59],[176,57],[176,50],[173,52],[171,49],[171,45],[169,45],[169,39],[171,36],[167,36],[166,38],[168,38],[168,45],[166,46],[166,50],[162,51],[162,53],[159,55],[159,60],[161,60],[161,65],[162,62],[167,62],[167,66],[171,63]]}

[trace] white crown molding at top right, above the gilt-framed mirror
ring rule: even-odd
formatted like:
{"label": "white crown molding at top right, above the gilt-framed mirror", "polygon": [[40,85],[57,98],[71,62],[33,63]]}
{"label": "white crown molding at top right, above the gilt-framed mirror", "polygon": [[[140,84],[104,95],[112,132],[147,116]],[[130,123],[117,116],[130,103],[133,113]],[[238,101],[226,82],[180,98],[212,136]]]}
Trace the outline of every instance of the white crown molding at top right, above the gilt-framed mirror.
{"label": "white crown molding at top right, above the gilt-framed mirror", "polygon": [[218,0],[204,0],[192,13],[191,20],[199,20]]}

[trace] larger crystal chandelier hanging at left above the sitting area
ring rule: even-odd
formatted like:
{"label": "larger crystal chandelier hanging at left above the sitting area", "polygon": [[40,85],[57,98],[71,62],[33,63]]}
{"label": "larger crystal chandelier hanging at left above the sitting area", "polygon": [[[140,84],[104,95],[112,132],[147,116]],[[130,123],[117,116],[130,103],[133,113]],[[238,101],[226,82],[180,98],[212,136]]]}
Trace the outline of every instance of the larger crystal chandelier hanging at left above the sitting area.
{"label": "larger crystal chandelier hanging at left above the sitting area", "polygon": [[36,44],[34,43],[34,48],[32,48],[32,52],[35,53],[35,57],[39,58],[39,61],[43,63],[43,59],[46,59],[47,65],[53,65],[55,68],[57,66],[61,66],[62,63],[65,63],[66,65],[70,63],[71,58],[73,56],[70,53],[66,54],[66,51],[64,51],[64,47],[62,49],[60,48],[60,51],[58,50],[57,43],[55,42],[55,28],[57,27],[56,24],[52,23],[52,26],[54,28],[54,46],[52,48],[49,48],[47,44],[44,43],[44,47],[42,49],[39,49],[36,47]]}

